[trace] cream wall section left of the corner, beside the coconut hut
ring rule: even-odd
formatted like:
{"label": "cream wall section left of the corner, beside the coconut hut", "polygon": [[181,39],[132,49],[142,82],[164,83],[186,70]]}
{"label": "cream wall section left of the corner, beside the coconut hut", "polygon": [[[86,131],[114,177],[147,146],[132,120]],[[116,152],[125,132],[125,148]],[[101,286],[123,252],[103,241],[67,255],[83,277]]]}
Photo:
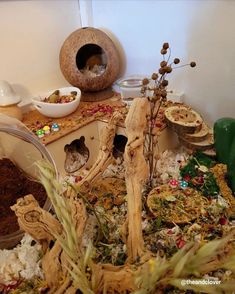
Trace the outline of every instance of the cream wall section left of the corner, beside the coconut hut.
{"label": "cream wall section left of the corner, beside the coconut hut", "polygon": [[0,1],[0,80],[29,99],[67,85],[59,51],[81,27],[78,0]]}

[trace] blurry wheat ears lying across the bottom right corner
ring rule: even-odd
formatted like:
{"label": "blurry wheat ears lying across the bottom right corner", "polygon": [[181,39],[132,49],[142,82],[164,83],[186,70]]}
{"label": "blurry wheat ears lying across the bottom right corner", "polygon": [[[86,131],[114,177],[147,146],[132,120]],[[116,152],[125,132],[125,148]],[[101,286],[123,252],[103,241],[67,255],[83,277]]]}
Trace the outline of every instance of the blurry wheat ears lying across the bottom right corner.
{"label": "blurry wheat ears lying across the bottom right corner", "polygon": [[235,273],[235,248],[232,248],[226,259],[216,260],[217,256],[223,252],[224,246],[232,239],[234,232],[220,239],[210,241],[202,246],[189,243],[184,248],[175,253],[169,260],[157,256],[151,258],[142,267],[136,277],[138,290],[134,294],[156,293],[156,290],[164,289],[167,285],[172,285],[182,290],[194,290],[197,293],[208,294],[232,293],[235,280],[230,280],[216,285],[182,285],[182,280],[197,280],[201,273],[224,268]]}

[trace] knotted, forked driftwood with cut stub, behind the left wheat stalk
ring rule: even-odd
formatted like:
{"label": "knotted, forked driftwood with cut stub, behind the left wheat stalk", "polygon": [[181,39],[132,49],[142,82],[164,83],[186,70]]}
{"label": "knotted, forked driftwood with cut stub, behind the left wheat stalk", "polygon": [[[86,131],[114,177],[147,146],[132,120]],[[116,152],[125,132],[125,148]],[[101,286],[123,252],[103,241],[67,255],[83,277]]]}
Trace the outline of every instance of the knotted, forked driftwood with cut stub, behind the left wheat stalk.
{"label": "knotted, forked driftwood with cut stub, behind the left wheat stalk", "polygon": [[[75,222],[77,238],[81,242],[87,221],[86,208],[82,200],[70,201],[71,214]],[[12,210],[18,217],[20,228],[43,246],[42,269],[50,294],[76,293],[66,268],[67,256],[55,235],[63,235],[62,225],[48,211],[43,210],[33,195],[18,199]]]}

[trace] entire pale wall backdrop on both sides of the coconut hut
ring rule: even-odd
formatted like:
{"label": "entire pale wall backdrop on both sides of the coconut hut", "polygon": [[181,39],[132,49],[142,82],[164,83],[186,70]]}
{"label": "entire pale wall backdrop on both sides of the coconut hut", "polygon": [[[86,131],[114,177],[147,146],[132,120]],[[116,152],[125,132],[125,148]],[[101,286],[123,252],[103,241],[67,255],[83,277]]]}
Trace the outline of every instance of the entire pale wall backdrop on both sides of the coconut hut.
{"label": "entire pale wall backdrop on both sides of the coconut hut", "polygon": [[0,79],[30,97],[67,85],[59,50],[74,30],[94,26],[122,48],[123,75],[156,71],[160,48],[197,67],[175,70],[170,87],[209,123],[235,117],[235,1],[229,0],[0,1]]}

